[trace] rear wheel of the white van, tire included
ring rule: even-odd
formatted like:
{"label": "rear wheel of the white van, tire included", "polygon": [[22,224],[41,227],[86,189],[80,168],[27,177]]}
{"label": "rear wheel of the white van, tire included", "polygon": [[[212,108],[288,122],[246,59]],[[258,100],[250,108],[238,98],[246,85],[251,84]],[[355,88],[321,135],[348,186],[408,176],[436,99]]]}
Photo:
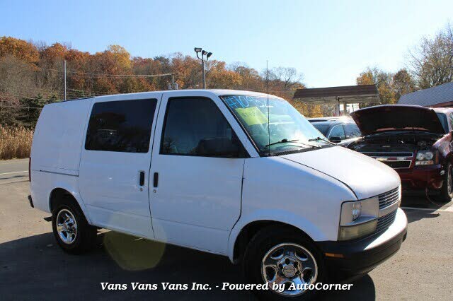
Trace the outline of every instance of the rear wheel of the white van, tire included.
{"label": "rear wheel of the white van, tire included", "polygon": [[97,230],[69,197],[52,211],[52,230],[59,246],[70,254],[81,254],[93,247]]}

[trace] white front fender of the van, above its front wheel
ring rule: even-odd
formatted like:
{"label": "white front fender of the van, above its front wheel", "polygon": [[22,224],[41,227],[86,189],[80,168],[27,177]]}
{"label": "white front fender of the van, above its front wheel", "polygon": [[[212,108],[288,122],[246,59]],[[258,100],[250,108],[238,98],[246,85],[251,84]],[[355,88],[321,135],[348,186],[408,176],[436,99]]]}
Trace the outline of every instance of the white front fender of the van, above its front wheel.
{"label": "white front fender of the van, above its front wheel", "polygon": [[229,237],[229,256],[241,229],[256,220],[294,225],[314,241],[337,240],[340,204],[356,199],[345,184],[310,167],[280,157],[246,159],[242,213]]}

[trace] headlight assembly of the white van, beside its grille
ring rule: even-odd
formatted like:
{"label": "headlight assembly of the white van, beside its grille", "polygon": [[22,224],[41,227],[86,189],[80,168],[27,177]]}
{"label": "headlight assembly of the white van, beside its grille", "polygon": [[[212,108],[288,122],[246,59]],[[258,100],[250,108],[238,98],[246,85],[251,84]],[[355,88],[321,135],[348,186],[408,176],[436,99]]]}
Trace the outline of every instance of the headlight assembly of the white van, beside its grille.
{"label": "headlight assembly of the white van, beside its grille", "polygon": [[379,216],[377,196],[361,201],[347,201],[341,205],[338,240],[354,240],[376,230]]}

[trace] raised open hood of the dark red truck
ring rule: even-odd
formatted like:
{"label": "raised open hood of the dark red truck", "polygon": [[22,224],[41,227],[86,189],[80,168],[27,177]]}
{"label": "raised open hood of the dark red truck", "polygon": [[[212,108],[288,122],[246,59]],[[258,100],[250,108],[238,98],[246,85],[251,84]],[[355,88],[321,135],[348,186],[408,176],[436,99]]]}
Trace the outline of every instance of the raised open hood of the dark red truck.
{"label": "raised open hood of the dark red truck", "polygon": [[350,115],[364,136],[401,129],[445,134],[434,110],[418,105],[378,105]]}

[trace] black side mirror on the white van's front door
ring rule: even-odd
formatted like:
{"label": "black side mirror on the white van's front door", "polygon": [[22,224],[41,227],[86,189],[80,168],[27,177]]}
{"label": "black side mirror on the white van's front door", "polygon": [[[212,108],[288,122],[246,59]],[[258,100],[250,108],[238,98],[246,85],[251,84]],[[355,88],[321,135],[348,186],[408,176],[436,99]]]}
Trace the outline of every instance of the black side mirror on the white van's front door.
{"label": "black side mirror on the white van's front door", "polygon": [[226,137],[202,139],[197,146],[197,155],[239,158],[239,144]]}

